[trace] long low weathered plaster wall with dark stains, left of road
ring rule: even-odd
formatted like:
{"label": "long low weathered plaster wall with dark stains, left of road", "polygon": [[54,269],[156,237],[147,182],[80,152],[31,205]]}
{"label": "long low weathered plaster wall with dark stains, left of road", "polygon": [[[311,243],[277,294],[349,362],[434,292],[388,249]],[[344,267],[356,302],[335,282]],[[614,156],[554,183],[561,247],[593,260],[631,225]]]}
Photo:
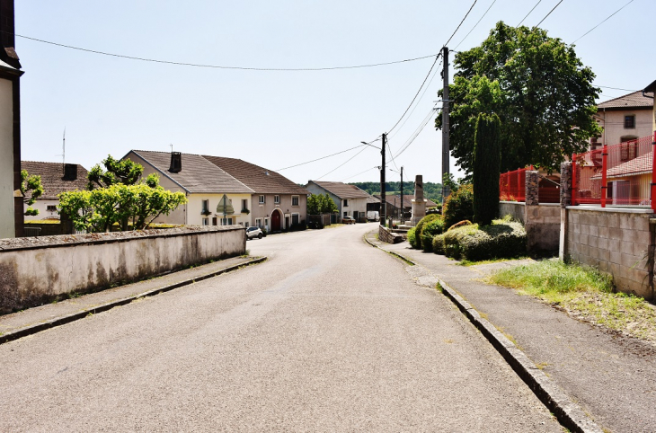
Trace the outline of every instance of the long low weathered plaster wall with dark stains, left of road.
{"label": "long low weathered plaster wall with dark stains, left of road", "polygon": [[244,227],[0,240],[0,313],[244,254]]}

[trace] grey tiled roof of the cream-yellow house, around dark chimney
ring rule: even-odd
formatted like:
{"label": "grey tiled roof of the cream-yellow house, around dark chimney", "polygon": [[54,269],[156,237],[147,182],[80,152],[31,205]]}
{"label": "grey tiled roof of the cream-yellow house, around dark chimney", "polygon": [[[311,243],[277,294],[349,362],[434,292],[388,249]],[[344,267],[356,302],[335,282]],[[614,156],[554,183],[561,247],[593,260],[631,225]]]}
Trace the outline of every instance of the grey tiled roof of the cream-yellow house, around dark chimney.
{"label": "grey tiled roof of the cream-yellow house, around dark chimney", "polygon": [[131,152],[152,164],[155,169],[164,173],[164,175],[191,193],[232,192],[253,194],[254,192],[244,183],[237,181],[233,176],[200,155],[182,154],[182,170],[180,172],[169,172],[171,166],[170,153],[147,150],[132,150]]}

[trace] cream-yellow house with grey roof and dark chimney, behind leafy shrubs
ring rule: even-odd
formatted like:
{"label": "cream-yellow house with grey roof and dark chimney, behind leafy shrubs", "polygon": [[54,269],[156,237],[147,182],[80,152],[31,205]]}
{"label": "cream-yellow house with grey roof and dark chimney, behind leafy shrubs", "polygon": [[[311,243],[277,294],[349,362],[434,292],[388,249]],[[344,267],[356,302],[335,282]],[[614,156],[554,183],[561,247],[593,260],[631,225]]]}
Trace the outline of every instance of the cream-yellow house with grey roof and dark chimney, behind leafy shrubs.
{"label": "cream-yellow house with grey roof and dark chimney, behind leafy shrubs", "polygon": [[183,225],[253,225],[254,191],[200,155],[131,150],[123,159],[140,163],[143,177],[159,175],[166,190],[180,191],[189,203],[155,223]]}

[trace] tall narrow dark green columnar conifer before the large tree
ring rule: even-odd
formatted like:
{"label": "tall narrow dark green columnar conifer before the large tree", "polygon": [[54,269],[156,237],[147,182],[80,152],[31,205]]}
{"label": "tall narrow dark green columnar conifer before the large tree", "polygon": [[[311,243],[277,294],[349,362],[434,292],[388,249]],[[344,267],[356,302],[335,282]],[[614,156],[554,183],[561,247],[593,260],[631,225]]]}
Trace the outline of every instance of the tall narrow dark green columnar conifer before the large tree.
{"label": "tall narrow dark green columnar conifer before the large tree", "polygon": [[496,114],[481,113],[474,136],[474,223],[491,225],[499,214],[501,121]]}

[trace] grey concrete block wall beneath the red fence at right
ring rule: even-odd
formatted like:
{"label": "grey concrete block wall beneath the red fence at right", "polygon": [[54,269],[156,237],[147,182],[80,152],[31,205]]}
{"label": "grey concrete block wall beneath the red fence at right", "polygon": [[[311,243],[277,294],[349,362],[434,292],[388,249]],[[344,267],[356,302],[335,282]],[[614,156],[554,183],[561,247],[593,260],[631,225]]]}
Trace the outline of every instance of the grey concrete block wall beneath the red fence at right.
{"label": "grey concrete block wall beneath the red fence at right", "polygon": [[567,207],[564,254],[608,272],[618,290],[653,299],[651,209]]}

